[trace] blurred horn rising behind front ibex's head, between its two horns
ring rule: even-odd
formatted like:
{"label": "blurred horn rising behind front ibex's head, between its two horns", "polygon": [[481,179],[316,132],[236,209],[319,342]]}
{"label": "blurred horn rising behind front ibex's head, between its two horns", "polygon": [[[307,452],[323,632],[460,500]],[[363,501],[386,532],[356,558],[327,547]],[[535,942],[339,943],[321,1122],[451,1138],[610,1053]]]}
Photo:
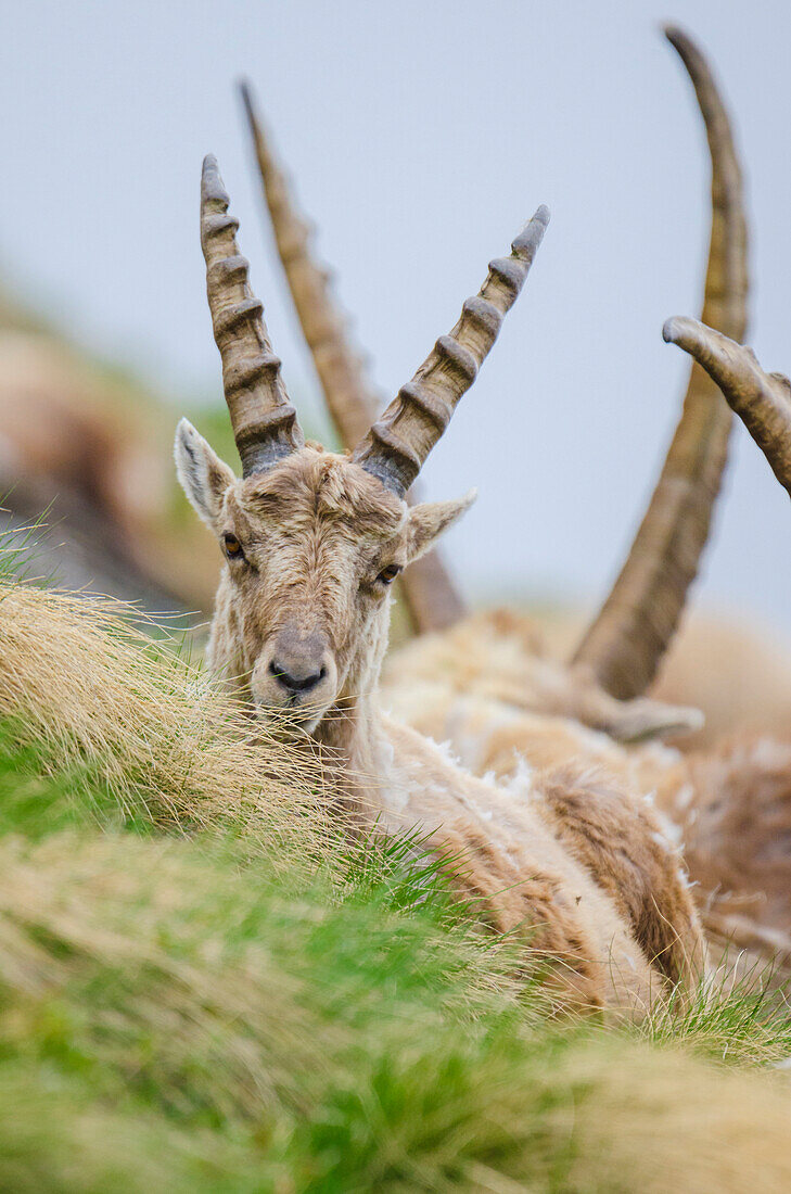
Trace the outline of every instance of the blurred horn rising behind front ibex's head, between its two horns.
{"label": "blurred horn rising behind front ibex's head, between its two horns", "polygon": [[[240,84],[255,150],[264,199],[293,306],[319,375],[335,430],[346,448],[367,432],[381,407],[363,358],[350,341],[347,321],[333,298],[329,276],[313,258],[311,227],[299,215],[289,180],[255,111],[253,91]],[[414,496],[413,496],[414,497]],[[409,620],[419,634],[444,630],[464,614],[464,603],[434,548],[400,577],[398,587]]]}

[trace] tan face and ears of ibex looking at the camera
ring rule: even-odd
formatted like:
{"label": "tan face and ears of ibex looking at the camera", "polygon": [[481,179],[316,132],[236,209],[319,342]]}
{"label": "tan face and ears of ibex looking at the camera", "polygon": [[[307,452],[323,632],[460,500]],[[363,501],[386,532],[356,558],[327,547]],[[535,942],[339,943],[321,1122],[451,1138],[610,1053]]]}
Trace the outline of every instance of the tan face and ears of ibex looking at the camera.
{"label": "tan face and ears of ibex looking at the camera", "polygon": [[186,420],[177,468],[225,558],[210,663],[257,709],[315,731],[366,691],[387,645],[390,585],[472,500],[409,507],[348,457],[305,447],[237,480]]}

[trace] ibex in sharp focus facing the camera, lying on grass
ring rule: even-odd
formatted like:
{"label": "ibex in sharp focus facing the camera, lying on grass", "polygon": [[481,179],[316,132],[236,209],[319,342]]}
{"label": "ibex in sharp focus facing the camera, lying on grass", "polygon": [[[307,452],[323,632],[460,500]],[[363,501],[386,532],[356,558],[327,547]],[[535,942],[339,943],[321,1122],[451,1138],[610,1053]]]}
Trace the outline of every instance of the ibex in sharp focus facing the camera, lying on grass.
{"label": "ibex in sharp focus facing the camera, lying on grass", "polygon": [[377,703],[390,585],[472,500],[410,507],[404,494],[492,347],[549,213],[490,264],[450,336],[341,456],[303,441],[228,202],[208,158],[206,288],[243,474],[181,420],[179,478],[224,554],[210,665],[260,718],[288,719],[305,750],[329,757],[346,816],[419,829],[484,921],[526,925],[562,1004],[639,1011],[668,984],[694,984],[700,925],[643,801],[570,765],[498,788]]}

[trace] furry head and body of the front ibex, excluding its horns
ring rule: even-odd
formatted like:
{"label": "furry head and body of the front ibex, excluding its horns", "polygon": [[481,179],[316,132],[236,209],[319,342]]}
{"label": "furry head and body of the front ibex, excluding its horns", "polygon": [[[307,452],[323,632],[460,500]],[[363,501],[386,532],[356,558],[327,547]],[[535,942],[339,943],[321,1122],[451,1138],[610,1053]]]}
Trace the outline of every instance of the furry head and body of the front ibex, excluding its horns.
{"label": "furry head and body of the front ibex, excluding its horns", "polygon": [[[347,457],[314,445],[239,481],[184,421],[177,463],[225,549],[211,665],[264,720],[288,716],[304,749],[332,761],[341,804],[364,824],[427,833],[452,858],[459,888],[480,898],[483,921],[527,933],[563,1005],[636,1013],[668,975],[694,984],[700,928],[672,851],[659,858],[648,810],[617,784],[571,771],[494,787],[378,710],[388,579],[470,499],[410,509]],[[289,653],[311,653],[307,693],[279,679],[274,664]],[[618,845],[601,849],[611,830]]]}

